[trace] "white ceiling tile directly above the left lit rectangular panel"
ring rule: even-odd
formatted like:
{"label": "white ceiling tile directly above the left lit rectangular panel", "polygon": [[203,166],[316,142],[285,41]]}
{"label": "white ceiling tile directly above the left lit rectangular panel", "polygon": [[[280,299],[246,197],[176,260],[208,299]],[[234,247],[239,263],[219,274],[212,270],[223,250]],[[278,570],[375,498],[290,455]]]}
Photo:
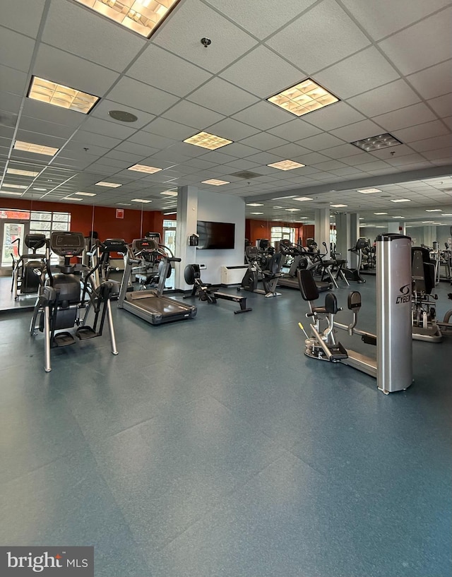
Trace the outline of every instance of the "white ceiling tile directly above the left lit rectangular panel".
{"label": "white ceiling tile directly above the left lit rectangular panel", "polygon": [[40,44],[32,73],[95,96],[105,95],[118,78],[116,72],[47,44]]}

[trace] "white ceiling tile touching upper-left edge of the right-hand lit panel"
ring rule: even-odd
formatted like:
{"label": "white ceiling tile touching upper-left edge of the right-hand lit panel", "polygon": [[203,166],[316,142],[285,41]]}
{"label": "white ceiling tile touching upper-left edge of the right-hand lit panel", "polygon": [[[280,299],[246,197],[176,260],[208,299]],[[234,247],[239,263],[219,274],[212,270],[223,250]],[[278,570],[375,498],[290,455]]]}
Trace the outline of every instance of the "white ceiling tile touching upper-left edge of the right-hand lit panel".
{"label": "white ceiling tile touching upper-left edge of the right-hand lit panel", "polygon": [[261,98],[273,96],[304,80],[299,70],[264,46],[243,56],[220,76]]}

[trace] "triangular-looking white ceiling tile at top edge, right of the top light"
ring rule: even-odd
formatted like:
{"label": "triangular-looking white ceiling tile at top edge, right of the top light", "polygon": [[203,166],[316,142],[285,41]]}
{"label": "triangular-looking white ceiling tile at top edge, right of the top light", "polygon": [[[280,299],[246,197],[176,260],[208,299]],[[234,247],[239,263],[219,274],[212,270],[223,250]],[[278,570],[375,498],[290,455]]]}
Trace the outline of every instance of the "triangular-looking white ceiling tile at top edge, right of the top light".
{"label": "triangular-looking white ceiling tile at top edge, right of the top light", "polygon": [[206,0],[242,28],[261,40],[298,16],[316,0],[285,0],[283,10],[275,10],[274,0],[259,0],[258,10],[253,2],[243,0]]}

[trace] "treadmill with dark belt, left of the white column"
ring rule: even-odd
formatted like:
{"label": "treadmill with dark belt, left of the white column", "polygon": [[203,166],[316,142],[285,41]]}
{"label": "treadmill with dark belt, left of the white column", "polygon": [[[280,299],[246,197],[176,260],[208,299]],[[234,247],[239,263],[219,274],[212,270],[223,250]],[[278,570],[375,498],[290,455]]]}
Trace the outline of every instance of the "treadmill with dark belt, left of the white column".
{"label": "treadmill with dark belt, left of the white column", "polygon": [[[157,288],[127,292],[133,266],[141,264],[141,260],[137,257],[145,254],[160,258]],[[157,243],[155,239],[135,239],[131,248],[129,247],[126,258],[121,290],[119,291],[118,308],[125,309],[152,325],[193,319],[196,316],[196,307],[163,296],[165,281],[171,274],[171,263],[179,263],[180,261],[180,258],[174,257],[171,249]]]}

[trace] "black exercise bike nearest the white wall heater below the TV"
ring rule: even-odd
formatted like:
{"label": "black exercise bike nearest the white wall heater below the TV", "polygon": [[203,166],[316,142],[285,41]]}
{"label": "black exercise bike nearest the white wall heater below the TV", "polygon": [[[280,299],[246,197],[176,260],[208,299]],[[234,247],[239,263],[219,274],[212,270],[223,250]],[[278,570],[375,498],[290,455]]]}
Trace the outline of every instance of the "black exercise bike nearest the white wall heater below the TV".
{"label": "black exercise bike nearest the white wall heater below the TV", "polygon": [[[268,259],[267,268],[261,268],[259,263],[261,256],[257,246],[246,246],[245,258],[248,262],[248,268],[242,278],[241,286],[237,290],[244,289],[249,292],[257,292],[258,295],[265,297],[279,297],[280,292],[276,292],[276,285],[280,279],[281,266],[283,266],[283,254],[275,252]],[[258,288],[258,282],[262,281],[263,289]]]}

